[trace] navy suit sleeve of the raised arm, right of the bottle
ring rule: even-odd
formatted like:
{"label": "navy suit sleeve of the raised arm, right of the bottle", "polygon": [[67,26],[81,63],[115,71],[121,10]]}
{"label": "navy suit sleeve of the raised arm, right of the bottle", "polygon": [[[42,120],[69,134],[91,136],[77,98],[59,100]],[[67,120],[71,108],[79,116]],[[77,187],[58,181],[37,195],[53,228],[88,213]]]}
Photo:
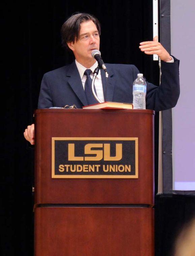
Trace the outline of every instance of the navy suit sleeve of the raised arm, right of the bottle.
{"label": "navy suit sleeve of the raised arm, right of the bottle", "polygon": [[[174,59],[174,63],[161,61],[161,84],[155,86],[147,82],[146,108],[161,111],[172,108],[176,105],[180,95],[179,63]],[[135,67],[136,68],[136,67]],[[136,68],[137,69],[137,68]],[[138,69],[134,73],[136,74]],[[137,74],[136,74],[137,75]],[[136,78],[136,76],[135,76]]]}

